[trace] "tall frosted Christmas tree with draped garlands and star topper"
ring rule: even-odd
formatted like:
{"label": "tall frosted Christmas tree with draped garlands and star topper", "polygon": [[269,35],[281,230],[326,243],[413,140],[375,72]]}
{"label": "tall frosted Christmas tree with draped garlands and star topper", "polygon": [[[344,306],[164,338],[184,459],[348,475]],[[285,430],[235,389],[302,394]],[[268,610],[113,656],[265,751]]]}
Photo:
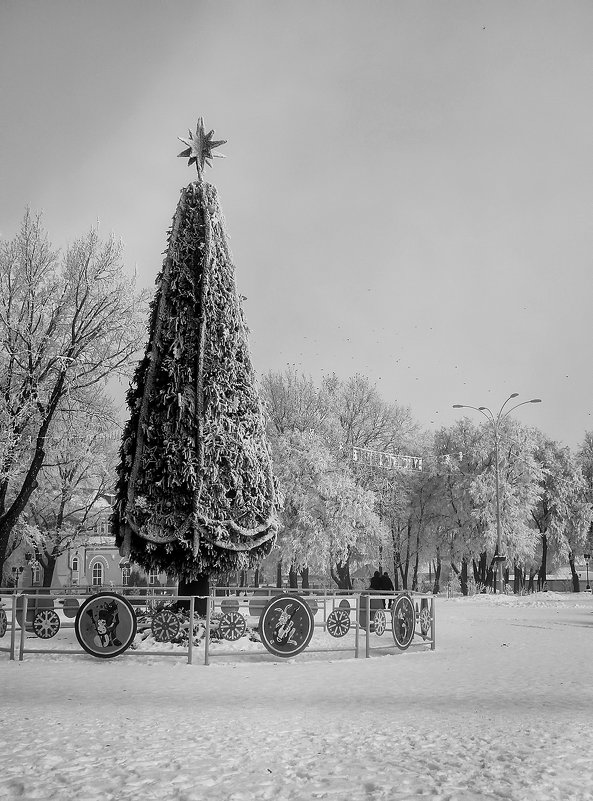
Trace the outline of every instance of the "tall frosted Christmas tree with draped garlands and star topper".
{"label": "tall frosted Christmas tree with draped garlands and star topper", "polygon": [[198,181],[181,192],[128,390],[113,515],[124,555],[183,580],[254,564],[278,527],[234,267],[216,190],[201,180],[220,144],[211,135],[200,119],[182,140]]}

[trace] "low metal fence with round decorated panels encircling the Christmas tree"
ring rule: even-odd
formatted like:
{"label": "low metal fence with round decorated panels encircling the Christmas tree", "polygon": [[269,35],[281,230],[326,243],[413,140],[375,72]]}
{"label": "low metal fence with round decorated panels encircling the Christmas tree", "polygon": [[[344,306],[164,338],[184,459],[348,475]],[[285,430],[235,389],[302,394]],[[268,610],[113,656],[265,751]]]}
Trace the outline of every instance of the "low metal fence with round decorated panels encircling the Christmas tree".
{"label": "low metal fence with round decorated panels encircling the Christmas tree", "polygon": [[305,650],[358,659],[436,647],[436,599],[429,594],[216,587],[208,596],[180,596],[163,589],[147,595],[145,587],[126,587],[125,596],[0,589],[0,653],[22,661],[25,654],[110,658],[125,651],[208,665],[219,657],[269,660]]}

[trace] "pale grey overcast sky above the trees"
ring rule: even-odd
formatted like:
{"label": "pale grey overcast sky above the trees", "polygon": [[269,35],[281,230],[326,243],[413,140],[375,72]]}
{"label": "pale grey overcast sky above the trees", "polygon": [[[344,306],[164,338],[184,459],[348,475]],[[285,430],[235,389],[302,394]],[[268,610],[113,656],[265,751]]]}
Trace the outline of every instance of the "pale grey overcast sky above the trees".
{"label": "pale grey overcast sky above the trees", "polygon": [[[258,373],[593,430],[593,3],[0,0],[0,233],[152,286],[203,116]],[[479,415],[475,413],[476,422]]]}

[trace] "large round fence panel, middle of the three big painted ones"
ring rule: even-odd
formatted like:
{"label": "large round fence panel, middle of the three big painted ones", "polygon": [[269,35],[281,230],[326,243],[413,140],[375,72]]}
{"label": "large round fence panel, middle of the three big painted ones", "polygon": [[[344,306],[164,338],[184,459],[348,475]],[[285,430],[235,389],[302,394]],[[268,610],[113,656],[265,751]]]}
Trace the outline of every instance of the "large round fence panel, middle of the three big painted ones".
{"label": "large round fence panel, middle of the three big painted ones", "polygon": [[263,644],[275,656],[296,656],[304,651],[314,628],[308,603],[298,595],[272,598],[262,612],[259,631]]}

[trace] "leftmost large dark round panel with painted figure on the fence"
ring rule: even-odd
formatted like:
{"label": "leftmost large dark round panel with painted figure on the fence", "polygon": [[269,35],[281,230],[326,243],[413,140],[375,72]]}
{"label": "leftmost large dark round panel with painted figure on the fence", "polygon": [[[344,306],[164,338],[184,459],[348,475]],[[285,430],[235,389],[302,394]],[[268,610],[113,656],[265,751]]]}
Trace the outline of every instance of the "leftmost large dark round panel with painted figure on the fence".
{"label": "leftmost large dark round panel with painted figure on the fence", "polygon": [[136,636],[136,615],[121,595],[99,592],[82,604],[74,622],[76,639],[100,659],[119,656]]}

